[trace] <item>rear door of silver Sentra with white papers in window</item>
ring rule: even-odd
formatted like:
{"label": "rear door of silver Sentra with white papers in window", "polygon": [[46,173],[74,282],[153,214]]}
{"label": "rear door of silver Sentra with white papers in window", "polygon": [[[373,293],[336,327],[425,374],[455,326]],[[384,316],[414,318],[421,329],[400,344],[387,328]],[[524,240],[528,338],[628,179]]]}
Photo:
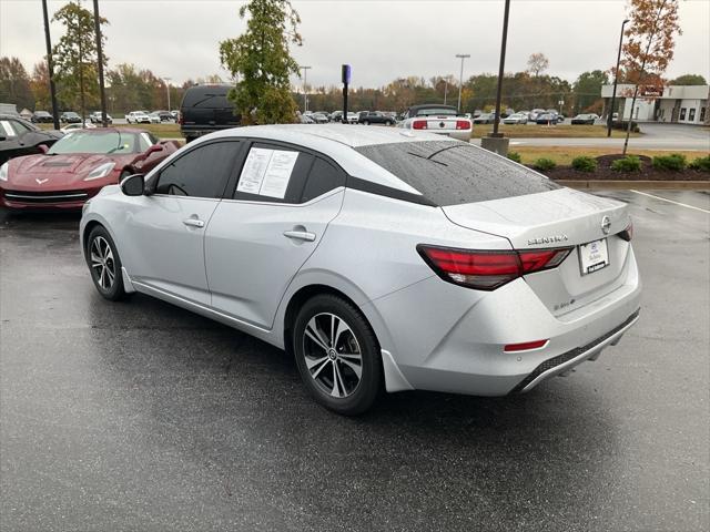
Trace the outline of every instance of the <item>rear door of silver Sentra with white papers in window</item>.
{"label": "rear door of silver Sentra with white papers in window", "polygon": [[313,152],[253,143],[232,200],[220,203],[205,235],[212,306],[271,328],[288,284],[341,209],[345,178]]}

